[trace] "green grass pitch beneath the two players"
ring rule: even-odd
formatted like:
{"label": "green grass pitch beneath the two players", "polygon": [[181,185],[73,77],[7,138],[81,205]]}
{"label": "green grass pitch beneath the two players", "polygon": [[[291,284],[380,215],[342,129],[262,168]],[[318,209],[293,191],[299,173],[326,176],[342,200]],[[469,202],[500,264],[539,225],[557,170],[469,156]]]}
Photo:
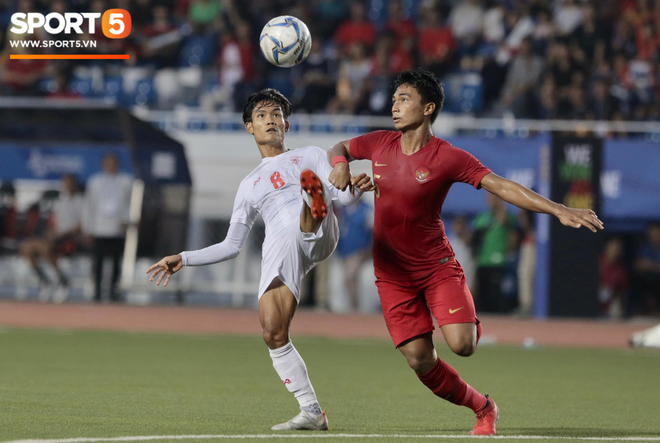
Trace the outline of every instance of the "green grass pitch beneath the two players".
{"label": "green grass pitch beneath the two players", "polygon": [[[465,435],[474,425],[471,411],[433,396],[389,342],[294,344],[328,413],[327,437]],[[497,401],[501,435],[660,436],[660,352],[482,346],[461,358],[438,350]],[[257,337],[0,330],[0,442],[272,434],[297,411]]]}

